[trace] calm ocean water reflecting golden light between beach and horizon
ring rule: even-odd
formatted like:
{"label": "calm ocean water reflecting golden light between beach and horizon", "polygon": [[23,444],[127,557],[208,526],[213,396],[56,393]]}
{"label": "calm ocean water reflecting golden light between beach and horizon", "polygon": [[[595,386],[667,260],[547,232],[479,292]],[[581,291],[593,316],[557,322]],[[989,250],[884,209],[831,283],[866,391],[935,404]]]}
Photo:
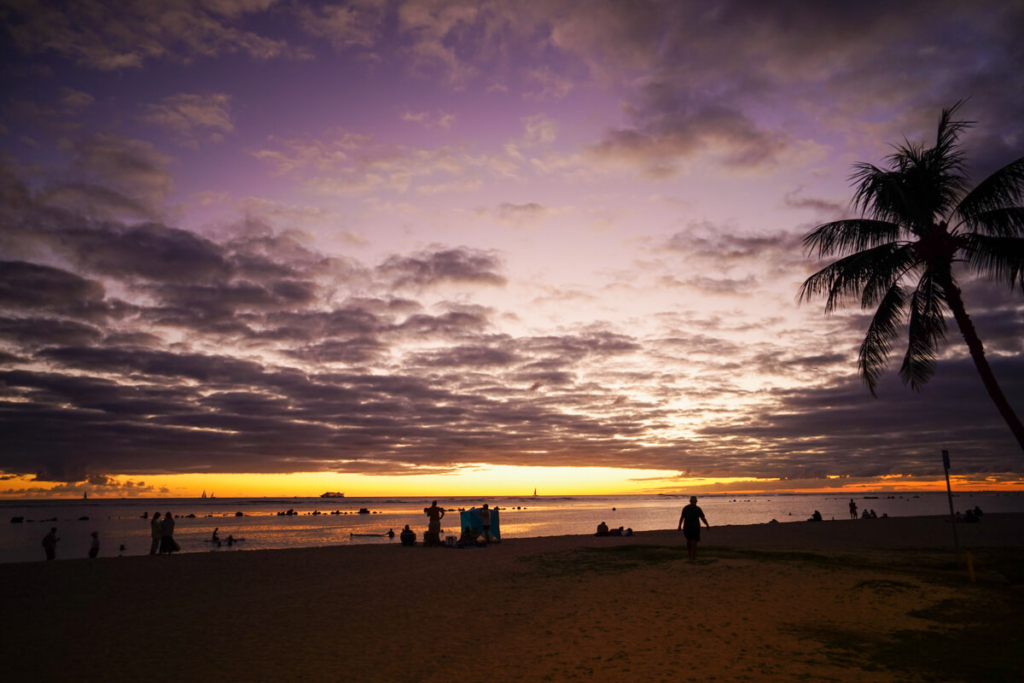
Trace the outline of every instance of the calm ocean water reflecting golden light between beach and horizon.
{"label": "calm ocean water reflecting golden light between beach and horizon", "polygon": [[[438,498],[450,512],[442,522],[446,535],[459,533],[458,510],[487,503],[499,508],[503,539],[593,533],[604,521],[609,527],[635,531],[675,528],[688,496],[575,496],[522,498]],[[824,519],[846,519],[849,496],[765,495],[701,496],[699,505],[712,526],[804,521],[815,510]],[[397,544],[397,533],[409,524],[418,540],[426,530],[423,509],[427,498],[227,498],[227,499],[93,499],[58,501],[0,501],[0,562],[39,561],[44,557],[42,538],[57,527],[60,542],[57,559],[84,558],[90,533],[97,531],[100,557],[145,555],[150,552],[150,521],[142,515],[171,512],[176,517],[174,538],[181,552],[244,552],[273,548]],[[880,516],[943,515],[949,503],[942,494],[879,494],[856,496],[861,510],[873,509]],[[954,495],[957,511],[981,508],[984,512],[1024,512],[1024,494]],[[371,514],[357,514],[368,508]],[[279,516],[295,510],[296,515]],[[242,516],[238,513],[241,512]],[[313,514],[319,512],[321,514]],[[330,514],[338,512],[339,514]],[[193,516],[195,515],[195,516]],[[24,517],[22,523],[10,523]],[[88,519],[82,519],[88,517]],[[233,547],[216,548],[207,540],[218,528],[221,540],[228,535],[245,539]],[[394,529],[395,539],[384,535]],[[121,550],[121,547],[124,549]]]}

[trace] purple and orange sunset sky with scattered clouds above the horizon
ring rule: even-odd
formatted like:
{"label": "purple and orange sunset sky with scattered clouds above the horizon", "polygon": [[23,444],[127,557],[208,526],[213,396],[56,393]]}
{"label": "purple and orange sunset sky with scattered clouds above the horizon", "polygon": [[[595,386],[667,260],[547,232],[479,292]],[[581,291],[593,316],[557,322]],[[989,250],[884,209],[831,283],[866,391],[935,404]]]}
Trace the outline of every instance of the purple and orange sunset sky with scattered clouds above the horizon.
{"label": "purple and orange sunset sky with scattered clouds above the horizon", "polygon": [[[1024,3],[0,0],[0,496],[1024,489],[950,319],[798,303]],[[1024,297],[959,271],[1024,413]],[[288,476],[283,476],[288,474]]]}

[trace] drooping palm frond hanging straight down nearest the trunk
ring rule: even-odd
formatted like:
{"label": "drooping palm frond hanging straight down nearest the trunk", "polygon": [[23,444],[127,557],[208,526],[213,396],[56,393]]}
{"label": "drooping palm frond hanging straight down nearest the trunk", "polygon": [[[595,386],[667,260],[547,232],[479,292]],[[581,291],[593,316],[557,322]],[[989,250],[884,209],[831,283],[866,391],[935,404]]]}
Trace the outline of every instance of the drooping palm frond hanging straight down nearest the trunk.
{"label": "drooping palm frond hanging straight down nearest the trunk", "polygon": [[944,292],[934,273],[926,271],[910,297],[910,343],[899,369],[903,384],[915,391],[935,374],[936,352],[946,338],[945,312]]}

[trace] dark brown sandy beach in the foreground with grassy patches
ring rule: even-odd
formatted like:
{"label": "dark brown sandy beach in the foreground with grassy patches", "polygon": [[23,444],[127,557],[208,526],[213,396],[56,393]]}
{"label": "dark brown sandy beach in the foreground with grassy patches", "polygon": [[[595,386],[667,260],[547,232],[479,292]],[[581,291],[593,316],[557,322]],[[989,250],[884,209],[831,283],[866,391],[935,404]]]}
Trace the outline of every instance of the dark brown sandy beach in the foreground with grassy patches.
{"label": "dark brown sandy beach in the foreground with grassy patches", "polygon": [[1024,515],[957,529],[973,584],[941,517],[6,564],[0,678],[1020,680]]}

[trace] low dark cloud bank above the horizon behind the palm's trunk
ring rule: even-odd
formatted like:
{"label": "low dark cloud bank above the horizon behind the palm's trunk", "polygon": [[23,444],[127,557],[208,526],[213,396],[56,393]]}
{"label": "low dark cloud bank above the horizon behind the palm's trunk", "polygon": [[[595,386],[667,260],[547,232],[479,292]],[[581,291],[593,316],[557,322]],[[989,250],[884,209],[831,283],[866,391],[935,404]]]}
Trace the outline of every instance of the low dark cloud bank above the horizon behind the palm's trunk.
{"label": "low dark cloud bank above the horizon behind the palm's trunk", "polygon": [[[1020,360],[994,359],[992,365],[1011,403],[1024,404]],[[943,449],[957,461],[956,473],[1018,469],[1020,449],[970,359],[940,362],[921,392],[901,386],[894,375],[884,379],[879,399],[853,379],[780,390],[772,408],[743,424],[701,432],[737,439],[731,454],[716,450],[724,465],[745,460],[758,443],[761,459],[743,468],[752,476],[934,475]]]}

